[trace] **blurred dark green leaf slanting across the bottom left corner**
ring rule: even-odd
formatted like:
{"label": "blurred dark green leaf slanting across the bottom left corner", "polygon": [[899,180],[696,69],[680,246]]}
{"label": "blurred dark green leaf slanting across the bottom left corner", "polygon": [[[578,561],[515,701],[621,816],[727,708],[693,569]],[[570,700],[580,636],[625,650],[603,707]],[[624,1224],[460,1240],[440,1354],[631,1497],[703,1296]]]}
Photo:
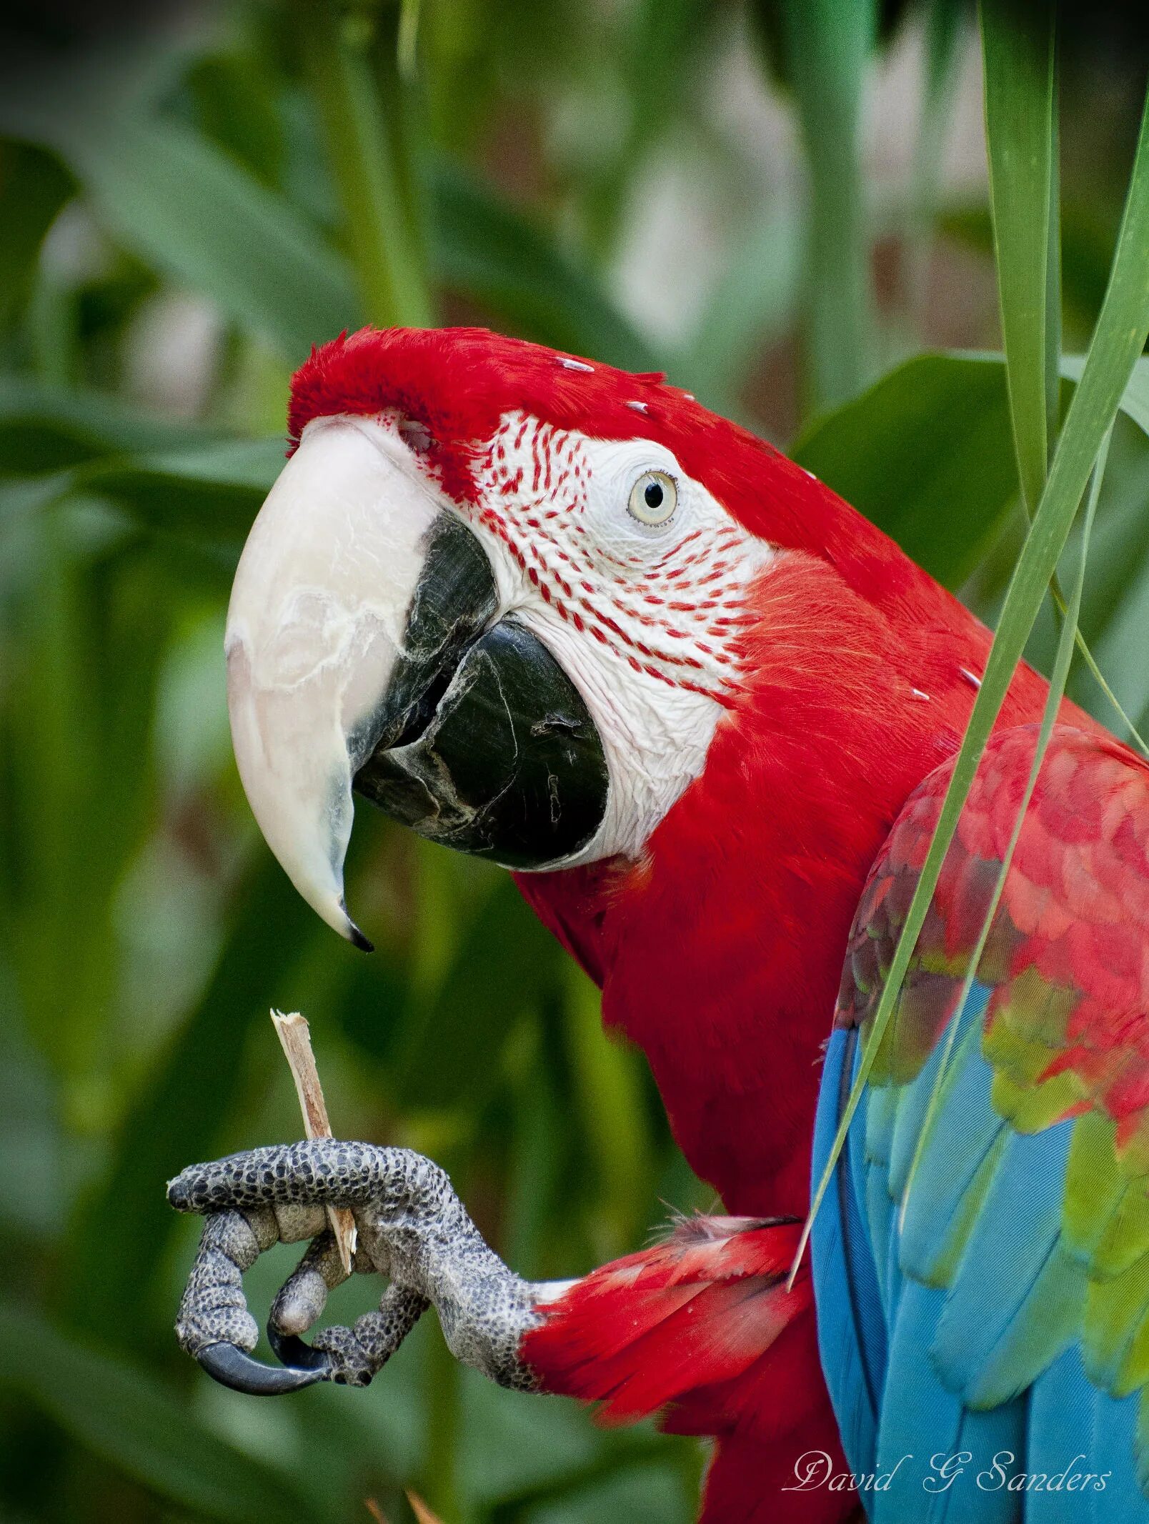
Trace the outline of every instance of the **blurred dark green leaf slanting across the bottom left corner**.
{"label": "blurred dark green leaf slanting across the bottom left corner", "polygon": [[[134,1309],[128,1288],[116,1315],[131,1318]],[[85,1449],[177,1507],[226,1524],[320,1518],[290,1477],[201,1428],[187,1402],[148,1370],[11,1303],[0,1303],[0,1387],[43,1408]]]}

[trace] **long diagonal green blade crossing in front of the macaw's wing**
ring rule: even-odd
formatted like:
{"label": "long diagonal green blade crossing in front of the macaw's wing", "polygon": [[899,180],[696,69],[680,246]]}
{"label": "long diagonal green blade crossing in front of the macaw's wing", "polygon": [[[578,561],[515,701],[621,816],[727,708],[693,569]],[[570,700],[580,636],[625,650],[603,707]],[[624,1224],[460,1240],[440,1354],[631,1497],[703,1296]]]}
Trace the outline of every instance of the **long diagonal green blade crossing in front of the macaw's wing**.
{"label": "long diagonal green blade crossing in front of the macaw's wing", "polygon": [[1112,427],[1137,357],[1149,337],[1149,98],[1141,116],[1129,192],[1117,238],[1109,285],[1097,319],[1082,378],[1070,402],[1065,427],[1050,466],[1048,480],[1033,515],[1001,608],[997,636],[989,652],[974,709],[966,725],[962,748],[946,788],[930,850],[922,866],[902,934],[890,965],[882,998],[875,1012],[870,1039],[866,1044],[858,1076],[843,1111],[831,1157],[811,1202],[809,1218],[799,1245],[800,1259],[809,1239],[811,1224],[826,1195],[826,1187],[838,1163],[846,1134],[858,1109],[875,1056],[890,1013],[902,989],[902,980],[913,956],[917,934],[925,922],[930,899],[937,885],[942,861],[957,829],[957,820],[969,796],[981,753],[1001,710],[1006,690],[1050,585],[1058,558],[1065,546],[1102,440]]}

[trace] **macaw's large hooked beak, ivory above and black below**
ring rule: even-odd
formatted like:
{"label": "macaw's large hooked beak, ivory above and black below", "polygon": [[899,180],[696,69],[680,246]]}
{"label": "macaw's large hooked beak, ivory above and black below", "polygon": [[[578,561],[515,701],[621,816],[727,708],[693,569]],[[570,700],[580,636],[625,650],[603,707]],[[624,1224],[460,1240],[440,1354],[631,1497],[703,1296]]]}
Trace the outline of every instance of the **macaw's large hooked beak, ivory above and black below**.
{"label": "macaw's large hooked beak, ivory above and black below", "polygon": [[239,558],[227,613],[236,764],[296,888],[341,936],[352,786],[510,866],[588,840],[607,799],[582,698],[514,616],[399,428],[311,422]]}

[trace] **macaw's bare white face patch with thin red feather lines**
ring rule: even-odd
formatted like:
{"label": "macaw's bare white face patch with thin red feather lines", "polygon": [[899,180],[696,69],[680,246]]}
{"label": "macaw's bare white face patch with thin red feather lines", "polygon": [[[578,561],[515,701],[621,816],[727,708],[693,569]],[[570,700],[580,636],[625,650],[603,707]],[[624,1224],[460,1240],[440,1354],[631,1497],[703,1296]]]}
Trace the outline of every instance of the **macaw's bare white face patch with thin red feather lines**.
{"label": "macaw's bare white face patch with thin red feather lines", "polygon": [[[675,489],[660,524],[628,507],[648,474]],[[599,831],[547,867],[637,858],[706,767],[739,689],[745,591],[774,552],[645,439],[591,439],[507,415],[474,477],[478,503],[465,517],[491,559],[501,613],[552,651],[607,753]]]}

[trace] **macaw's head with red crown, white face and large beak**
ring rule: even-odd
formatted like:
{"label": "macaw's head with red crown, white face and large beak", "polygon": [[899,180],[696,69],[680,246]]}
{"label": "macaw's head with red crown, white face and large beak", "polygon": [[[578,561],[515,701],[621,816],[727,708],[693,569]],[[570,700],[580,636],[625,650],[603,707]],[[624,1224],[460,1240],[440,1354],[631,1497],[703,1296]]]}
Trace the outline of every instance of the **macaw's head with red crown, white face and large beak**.
{"label": "macaw's head with red crown, white face and large beak", "polygon": [[358,942],[352,791],[518,870],[637,860],[753,686],[782,562],[863,599],[927,581],[660,376],[480,329],[326,344],[290,427],[232,593],[232,733],[273,852]]}

